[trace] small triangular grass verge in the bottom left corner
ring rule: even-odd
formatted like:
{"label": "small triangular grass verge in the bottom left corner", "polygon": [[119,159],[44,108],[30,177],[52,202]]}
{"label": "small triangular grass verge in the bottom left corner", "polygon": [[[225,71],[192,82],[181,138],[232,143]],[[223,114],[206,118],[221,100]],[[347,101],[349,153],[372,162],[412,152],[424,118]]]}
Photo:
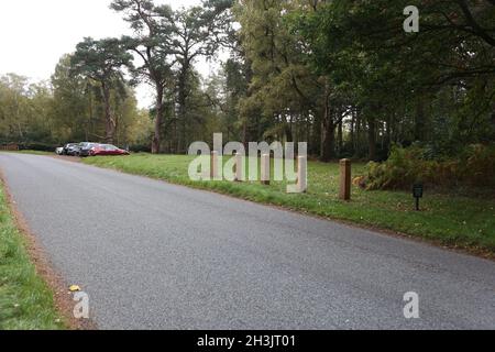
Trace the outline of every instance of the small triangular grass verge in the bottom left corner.
{"label": "small triangular grass verge in the bottom left corner", "polygon": [[53,293],[36,274],[0,185],[0,330],[64,328]]}

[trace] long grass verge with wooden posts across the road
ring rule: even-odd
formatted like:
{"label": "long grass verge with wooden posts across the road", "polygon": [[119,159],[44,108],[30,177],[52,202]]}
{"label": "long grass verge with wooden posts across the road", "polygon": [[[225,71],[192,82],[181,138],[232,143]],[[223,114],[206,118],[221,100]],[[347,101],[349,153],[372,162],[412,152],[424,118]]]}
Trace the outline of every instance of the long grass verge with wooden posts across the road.
{"label": "long grass verge with wooden posts across the road", "polygon": [[[308,193],[288,195],[284,183],[191,182],[188,165],[193,157],[134,154],[127,157],[86,158],[86,164],[144,175],[190,187],[211,189],[239,198],[282,206],[330,219],[392,230],[494,256],[495,200],[426,191],[421,211],[414,211],[414,198],[402,191],[365,191],[353,186],[352,201],[338,199],[337,163],[309,162]],[[353,175],[364,173],[354,164]]]}

